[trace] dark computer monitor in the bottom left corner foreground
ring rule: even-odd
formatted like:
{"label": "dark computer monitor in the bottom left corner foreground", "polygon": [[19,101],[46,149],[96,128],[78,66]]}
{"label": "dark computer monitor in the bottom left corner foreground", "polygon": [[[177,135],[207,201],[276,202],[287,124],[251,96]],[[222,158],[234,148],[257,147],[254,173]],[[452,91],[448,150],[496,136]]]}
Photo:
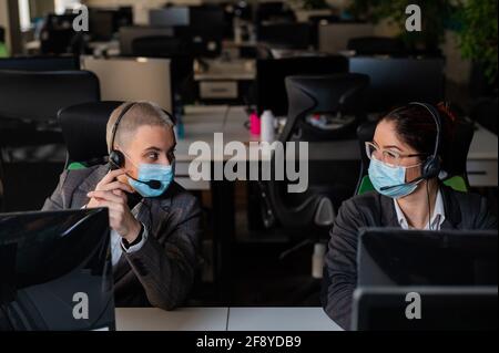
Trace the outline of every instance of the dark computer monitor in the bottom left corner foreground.
{"label": "dark computer monitor in the bottom left corner foreground", "polygon": [[114,329],[108,210],[0,215],[0,331]]}

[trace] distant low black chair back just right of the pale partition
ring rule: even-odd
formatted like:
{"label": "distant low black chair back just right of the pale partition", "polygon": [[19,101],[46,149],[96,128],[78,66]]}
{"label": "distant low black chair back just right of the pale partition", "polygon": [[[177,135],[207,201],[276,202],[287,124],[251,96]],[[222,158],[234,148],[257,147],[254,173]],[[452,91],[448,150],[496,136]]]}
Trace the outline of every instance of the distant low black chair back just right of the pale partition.
{"label": "distant low black chair back just right of the pale partition", "polygon": [[404,43],[397,38],[359,37],[348,41],[347,49],[356,55],[403,55]]}

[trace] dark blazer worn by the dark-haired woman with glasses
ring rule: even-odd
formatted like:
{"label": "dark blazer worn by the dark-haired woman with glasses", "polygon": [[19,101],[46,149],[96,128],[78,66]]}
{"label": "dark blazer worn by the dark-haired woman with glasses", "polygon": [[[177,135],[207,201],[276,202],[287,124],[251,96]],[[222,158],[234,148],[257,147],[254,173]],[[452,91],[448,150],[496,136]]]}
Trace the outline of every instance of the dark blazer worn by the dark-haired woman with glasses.
{"label": "dark blazer worn by the dark-haired woman with glasses", "polygon": [[[440,187],[446,219],[441,229],[497,229],[486,199]],[[330,231],[324,268],[322,301],[326,313],[342,328],[350,328],[352,299],[357,285],[358,230],[365,227],[399,228],[394,200],[376,191],[346,200]]]}

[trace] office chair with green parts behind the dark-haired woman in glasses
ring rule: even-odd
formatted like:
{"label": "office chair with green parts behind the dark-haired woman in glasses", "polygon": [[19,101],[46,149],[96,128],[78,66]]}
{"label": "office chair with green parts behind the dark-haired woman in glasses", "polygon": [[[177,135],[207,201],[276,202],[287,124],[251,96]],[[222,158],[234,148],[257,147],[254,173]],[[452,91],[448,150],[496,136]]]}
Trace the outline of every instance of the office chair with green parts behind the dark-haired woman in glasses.
{"label": "office chair with green parts behind the dark-haired woman in glasses", "polygon": [[[357,183],[356,195],[361,195],[375,189],[368,175],[369,158],[366,155],[365,147],[366,142],[373,141],[375,131],[376,122],[365,123],[357,128],[360,148],[360,175]],[[466,193],[469,189],[466,164],[473,133],[473,123],[471,121],[467,118],[458,118],[456,121],[452,153],[448,154],[448,157],[451,159],[444,162],[442,170],[447,175],[442,179],[442,183],[457,191]]]}

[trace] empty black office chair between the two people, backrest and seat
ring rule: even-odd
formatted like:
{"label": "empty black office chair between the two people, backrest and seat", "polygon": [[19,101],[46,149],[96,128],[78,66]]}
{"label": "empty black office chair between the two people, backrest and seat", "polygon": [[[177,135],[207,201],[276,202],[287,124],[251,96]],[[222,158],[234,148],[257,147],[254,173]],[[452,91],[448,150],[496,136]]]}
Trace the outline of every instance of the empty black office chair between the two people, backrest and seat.
{"label": "empty black office chair between the two people, backrest and seat", "polygon": [[[361,92],[368,82],[368,77],[361,74],[287,77],[288,118],[278,141],[317,142],[354,136],[356,126],[364,120]],[[344,123],[338,124],[335,131],[323,132],[307,126],[306,117],[316,112],[348,118],[339,118]],[[306,133],[302,133],[305,129]],[[327,232],[333,225],[335,209],[348,196],[342,189],[345,180],[352,177],[347,170],[343,172],[344,180],[335,183],[335,177],[342,174],[337,163],[309,163],[309,186],[303,194],[288,194],[285,181],[261,183],[264,225],[271,228],[278,222],[286,229],[294,229],[298,237],[310,233],[304,229],[319,228]],[[312,233],[318,236],[320,231]]]}

